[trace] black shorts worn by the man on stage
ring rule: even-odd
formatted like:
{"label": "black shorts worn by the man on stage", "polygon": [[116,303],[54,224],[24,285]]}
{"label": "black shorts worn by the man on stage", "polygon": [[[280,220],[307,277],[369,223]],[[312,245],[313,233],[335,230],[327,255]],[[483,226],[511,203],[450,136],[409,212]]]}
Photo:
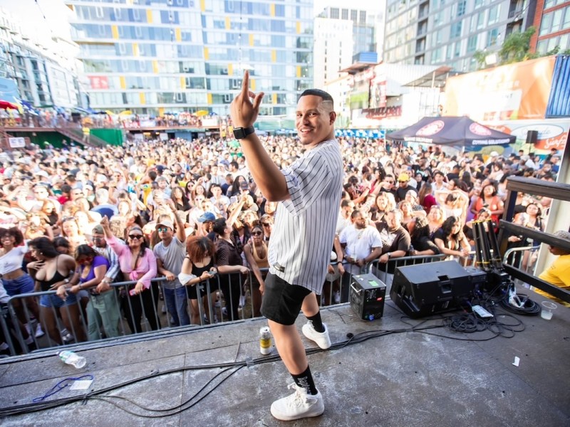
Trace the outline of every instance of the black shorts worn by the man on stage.
{"label": "black shorts worn by the man on stage", "polygon": [[293,325],[301,305],[311,290],[291,285],[278,276],[268,273],[261,299],[261,314],[280,325]]}

